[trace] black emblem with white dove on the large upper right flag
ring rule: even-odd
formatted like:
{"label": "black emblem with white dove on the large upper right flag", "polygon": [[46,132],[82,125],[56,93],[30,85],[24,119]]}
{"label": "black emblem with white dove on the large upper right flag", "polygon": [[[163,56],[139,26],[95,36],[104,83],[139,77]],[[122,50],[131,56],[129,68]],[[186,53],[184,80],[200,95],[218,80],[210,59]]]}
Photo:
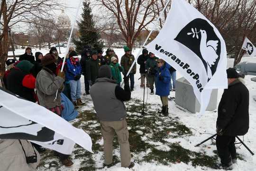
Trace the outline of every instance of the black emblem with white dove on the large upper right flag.
{"label": "black emblem with white dove on the large upper right flag", "polygon": [[192,20],[183,27],[174,40],[189,48],[201,59],[202,67],[205,68],[210,81],[219,63],[221,45],[219,37],[208,21],[201,18]]}

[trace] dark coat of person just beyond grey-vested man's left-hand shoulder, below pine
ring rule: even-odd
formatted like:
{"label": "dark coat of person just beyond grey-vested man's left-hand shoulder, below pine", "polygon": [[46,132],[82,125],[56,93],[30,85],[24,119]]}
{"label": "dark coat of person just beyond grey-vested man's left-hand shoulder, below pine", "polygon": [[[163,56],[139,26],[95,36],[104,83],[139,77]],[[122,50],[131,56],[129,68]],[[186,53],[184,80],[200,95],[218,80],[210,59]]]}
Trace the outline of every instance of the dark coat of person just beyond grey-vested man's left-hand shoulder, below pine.
{"label": "dark coat of person just beyond grey-vested man's left-hand shoulder, below pine", "polygon": [[95,82],[96,78],[99,76],[99,69],[101,67],[101,62],[99,59],[93,60],[91,59],[86,63],[86,78],[87,80],[91,80],[91,82]]}

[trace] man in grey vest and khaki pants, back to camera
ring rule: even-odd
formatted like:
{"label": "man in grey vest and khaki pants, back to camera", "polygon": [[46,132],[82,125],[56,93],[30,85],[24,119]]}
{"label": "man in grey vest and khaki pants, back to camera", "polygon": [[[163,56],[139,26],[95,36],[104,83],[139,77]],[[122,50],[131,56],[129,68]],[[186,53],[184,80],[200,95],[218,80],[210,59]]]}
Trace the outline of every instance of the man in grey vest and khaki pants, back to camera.
{"label": "man in grey vest and khaki pants, back to camera", "polygon": [[104,140],[105,163],[103,166],[109,168],[113,165],[113,138],[116,133],[120,145],[121,166],[132,168],[134,162],[131,162],[127,113],[123,103],[131,98],[131,91],[129,85],[125,85],[123,90],[111,77],[109,65],[101,66],[99,77],[90,90]]}

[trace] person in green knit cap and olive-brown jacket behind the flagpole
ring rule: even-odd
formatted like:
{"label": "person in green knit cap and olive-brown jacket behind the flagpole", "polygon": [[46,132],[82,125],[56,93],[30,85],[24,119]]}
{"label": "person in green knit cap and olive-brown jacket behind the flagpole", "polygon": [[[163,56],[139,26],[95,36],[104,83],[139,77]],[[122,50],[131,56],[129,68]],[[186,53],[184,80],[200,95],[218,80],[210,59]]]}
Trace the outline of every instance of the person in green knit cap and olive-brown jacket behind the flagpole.
{"label": "person in green knit cap and olive-brown jacket behind the flagpole", "polygon": [[[124,77],[126,77],[132,63],[134,62],[135,58],[133,54],[130,54],[130,49],[128,46],[124,46],[125,54],[121,57],[121,66],[124,68]],[[134,90],[134,74],[136,74],[136,63],[134,64],[131,72],[128,75],[128,79],[125,79],[125,84],[129,85],[129,79],[130,79],[130,89],[131,91]]]}

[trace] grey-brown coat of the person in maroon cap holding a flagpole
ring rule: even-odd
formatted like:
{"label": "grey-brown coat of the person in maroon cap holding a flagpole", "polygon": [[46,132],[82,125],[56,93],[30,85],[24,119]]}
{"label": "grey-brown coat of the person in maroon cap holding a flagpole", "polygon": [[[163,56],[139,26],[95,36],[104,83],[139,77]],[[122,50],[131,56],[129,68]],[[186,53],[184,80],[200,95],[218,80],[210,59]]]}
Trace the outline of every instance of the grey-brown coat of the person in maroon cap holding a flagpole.
{"label": "grey-brown coat of the person in maroon cap holding a flagpole", "polygon": [[[45,108],[55,108],[61,106],[60,93],[64,90],[64,79],[56,76],[48,68],[44,67],[37,74],[36,89],[38,102]],[[55,99],[56,91],[58,91],[57,99]]]}

